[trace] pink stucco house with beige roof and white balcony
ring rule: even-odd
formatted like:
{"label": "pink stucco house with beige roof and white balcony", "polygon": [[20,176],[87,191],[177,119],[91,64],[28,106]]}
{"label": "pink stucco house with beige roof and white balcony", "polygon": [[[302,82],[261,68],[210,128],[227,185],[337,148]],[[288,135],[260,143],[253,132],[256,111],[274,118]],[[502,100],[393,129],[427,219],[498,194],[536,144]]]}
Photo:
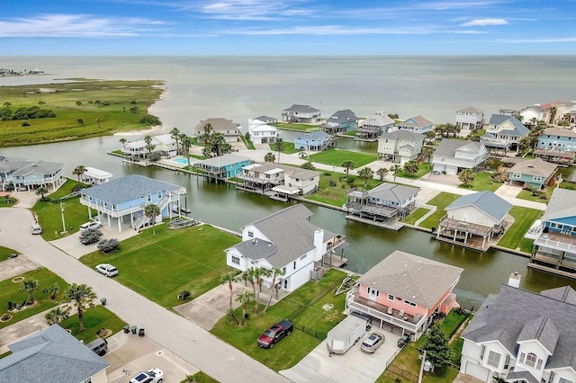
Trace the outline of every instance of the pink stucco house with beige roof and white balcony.
{"label": "pink stucco house with beige roof and white balcony", "polygon": [[395,251],[347,293],[347,309],[373,318],[373,325],[419,339],[436,313],[456,305],[453,292],[464,269]]}

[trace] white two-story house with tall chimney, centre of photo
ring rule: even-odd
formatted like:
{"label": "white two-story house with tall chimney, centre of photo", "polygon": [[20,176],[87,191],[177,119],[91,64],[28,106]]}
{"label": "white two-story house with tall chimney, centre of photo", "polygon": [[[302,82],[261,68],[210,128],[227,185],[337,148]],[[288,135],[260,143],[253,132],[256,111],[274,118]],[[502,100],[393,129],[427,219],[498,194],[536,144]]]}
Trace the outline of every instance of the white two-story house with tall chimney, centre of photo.
{"label": "white two-story house with tall chimney, centre of photo", "polygon": [[[242,242],[225,250],[226,263],[246,272],[262,267],[284,271],[282,289],[293,291],[311,279],[325,255],[344,245],[344,236],[310,222],[312,212],[302,204],[293,205],[242,227]],[[272,285],[272,277],[263,284]]]}

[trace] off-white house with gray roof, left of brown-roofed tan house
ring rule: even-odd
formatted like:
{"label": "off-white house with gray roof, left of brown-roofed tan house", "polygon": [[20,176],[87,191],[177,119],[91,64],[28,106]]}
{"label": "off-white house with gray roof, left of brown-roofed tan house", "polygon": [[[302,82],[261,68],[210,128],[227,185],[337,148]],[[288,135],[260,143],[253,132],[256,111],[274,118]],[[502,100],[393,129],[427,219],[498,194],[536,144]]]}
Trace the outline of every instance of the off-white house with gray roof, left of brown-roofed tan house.
{"label": "off-white house with gray roof, left of brown-roofed tan house", "polygon": [[462,169],[474,169],[486,160],[488,150],[482,142],[444,138],[434,151],[434,172],[456,175]]}

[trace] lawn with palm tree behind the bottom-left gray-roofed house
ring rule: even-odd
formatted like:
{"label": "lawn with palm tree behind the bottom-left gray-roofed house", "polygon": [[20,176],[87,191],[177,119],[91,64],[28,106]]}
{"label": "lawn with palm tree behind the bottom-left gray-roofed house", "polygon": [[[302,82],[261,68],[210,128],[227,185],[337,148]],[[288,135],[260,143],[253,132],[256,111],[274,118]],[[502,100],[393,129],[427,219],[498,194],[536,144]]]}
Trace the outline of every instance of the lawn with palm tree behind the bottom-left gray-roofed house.
{"label": "lawn with palm tree behind the bottom-left gray-roofed house", "polygon": [[112,313],[112,311],[98,305],[85,310],[84,325],[86,329],[80,333],[77,309],[76,307],[72,307],[71,310],[70,314],[76,313],[76,315],[68,316],[60,325],[62,328],[71,330],[72,334],[76,336],[77,339],[84,341],[84,343],[94,341],[94,339],[96,339],[96,333],[103,328],[112,330],[112,334],[115,334],[121,331],[122,327],[126,325],[121,318]]}

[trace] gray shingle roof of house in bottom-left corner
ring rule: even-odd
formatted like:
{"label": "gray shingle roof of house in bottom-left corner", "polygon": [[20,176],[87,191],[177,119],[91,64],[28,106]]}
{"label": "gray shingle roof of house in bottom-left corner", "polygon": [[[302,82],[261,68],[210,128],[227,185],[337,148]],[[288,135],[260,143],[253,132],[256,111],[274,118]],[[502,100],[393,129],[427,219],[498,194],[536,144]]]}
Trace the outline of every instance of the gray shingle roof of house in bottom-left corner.
{"label": "gray shingle roof of house in bottom-left corner", "polygon": [[13,354],[0,360],[3,382],[81,382],[110,365],[59,325],[9,348]]}

